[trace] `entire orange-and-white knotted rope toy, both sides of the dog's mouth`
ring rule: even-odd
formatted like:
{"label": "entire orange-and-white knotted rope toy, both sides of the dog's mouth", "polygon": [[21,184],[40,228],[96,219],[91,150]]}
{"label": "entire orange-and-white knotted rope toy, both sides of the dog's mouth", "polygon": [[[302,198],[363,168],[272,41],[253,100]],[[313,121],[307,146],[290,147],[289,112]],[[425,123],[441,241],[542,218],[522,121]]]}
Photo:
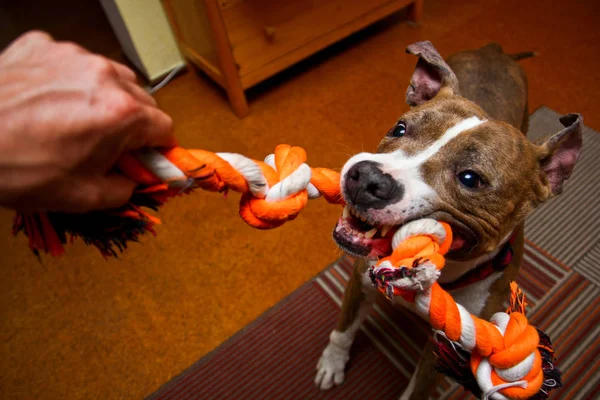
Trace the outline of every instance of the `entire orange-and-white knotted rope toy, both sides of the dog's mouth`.
{"label": "entire orange-and-white knotted rope toy, both sides of the dog's mouth", "polygon": [[[340,176],[310,168],[300,147],[280,145],[264,162],[239,154],[204,150],[149,149],[123,155],[118,170],[139,186],[130,202],[115,210],[86,214],[18,213],[13,232],[29,237],[33,251],[63,253],[69,237],[81,237],[105,256],[116,256],[129,241],[154,232],[160,221],[142,207],[157,210],[169,198],[196,188],[241,192],[240,216],[258,229],[296,218],[308,199],[324,197],[344,205]],[[450,226],[435,220],[413,221],[392,239],[389,257],[369,269],[373,284],[388,298],[402,297],[427,320],[440,340],[438,368],[483,399],[546,399],[561,386],[553,366],[550,339],[529,325],[525,296],[511,284],[511,308],[490,322],[470,315],[437,283],[452,242]],[[467,363],[466,360],[470,361]]]}

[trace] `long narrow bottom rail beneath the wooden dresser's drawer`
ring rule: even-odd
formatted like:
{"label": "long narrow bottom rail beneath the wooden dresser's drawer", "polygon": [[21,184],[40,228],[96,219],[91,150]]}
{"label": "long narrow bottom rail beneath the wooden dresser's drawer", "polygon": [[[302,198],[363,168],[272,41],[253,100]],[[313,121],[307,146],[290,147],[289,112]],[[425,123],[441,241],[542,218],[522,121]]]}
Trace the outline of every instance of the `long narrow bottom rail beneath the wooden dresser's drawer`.
{"label": "long narrow bottom rail beneath the wooden dresser's drawer", "polygon": [[275,58],[268,62],[261,68],[258,68],[252,72],[248,72],[242,76],[242,86],[249,88],[255,84],[265,80],[266,78],[275,75],[279,71],[295,64],[296,62],[314,54],[315,52],[324,49],[325,47],[335,43],[336,41],[351,35],[354,32],[382,19],[386,16],[403,9],[407,5],[410,5],[412,0],[395,0],[386,3],[384,6],[374,9],[360,18],[357,18],[336,30],[328,32],[327,34],[316,38],[315,40],[306,43],[289,53],[281,55],[281,57]]}

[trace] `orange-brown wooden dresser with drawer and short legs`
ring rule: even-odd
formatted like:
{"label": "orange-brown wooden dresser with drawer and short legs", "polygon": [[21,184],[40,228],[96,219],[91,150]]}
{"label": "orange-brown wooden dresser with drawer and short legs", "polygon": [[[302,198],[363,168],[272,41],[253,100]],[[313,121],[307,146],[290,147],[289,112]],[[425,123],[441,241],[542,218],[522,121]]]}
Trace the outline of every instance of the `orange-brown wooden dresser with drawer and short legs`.
{"label": "orange-brown wooden dresser with drawer and short legs", "polygon": [[187,62],[248,114],[244,90],[404,7],[424,0],[163,0]]}

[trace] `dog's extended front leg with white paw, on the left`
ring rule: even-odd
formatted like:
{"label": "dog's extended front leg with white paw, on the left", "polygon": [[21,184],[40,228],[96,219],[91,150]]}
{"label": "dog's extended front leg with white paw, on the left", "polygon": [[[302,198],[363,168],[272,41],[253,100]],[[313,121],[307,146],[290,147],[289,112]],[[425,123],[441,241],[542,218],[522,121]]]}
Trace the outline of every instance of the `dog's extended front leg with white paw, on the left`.
{"label": "dog's extended front leg with white paw, on the left", "polygon": [[322,390],[330,389],[333,384],[340,385],[344,381],[344,370],[350,358],[354,337],[373,303],[375,292],[370,284],[364,283],[366,271],[366,260],[358,259],[354,263],[354,271],[344,292],[338,326],[331,332],[329,344],[323,350],[317,364],[315,384]]}

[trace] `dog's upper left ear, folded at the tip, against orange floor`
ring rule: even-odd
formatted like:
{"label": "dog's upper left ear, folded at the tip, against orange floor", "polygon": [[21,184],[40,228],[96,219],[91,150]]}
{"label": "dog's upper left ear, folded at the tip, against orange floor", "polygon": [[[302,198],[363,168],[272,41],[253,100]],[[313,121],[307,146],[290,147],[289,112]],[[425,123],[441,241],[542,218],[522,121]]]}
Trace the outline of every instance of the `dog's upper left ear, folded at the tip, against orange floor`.
{"label": "dog's upper left ear, folded at the tip, against orange floor", "polygon": [[413,107],[433,99],[438,93],[458,95],[458,79],[431,42],[413,43],[408,54],[419,57],[410,86],[406,89],[406,103]]}

